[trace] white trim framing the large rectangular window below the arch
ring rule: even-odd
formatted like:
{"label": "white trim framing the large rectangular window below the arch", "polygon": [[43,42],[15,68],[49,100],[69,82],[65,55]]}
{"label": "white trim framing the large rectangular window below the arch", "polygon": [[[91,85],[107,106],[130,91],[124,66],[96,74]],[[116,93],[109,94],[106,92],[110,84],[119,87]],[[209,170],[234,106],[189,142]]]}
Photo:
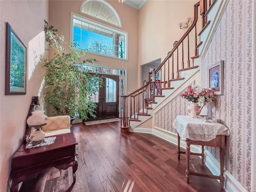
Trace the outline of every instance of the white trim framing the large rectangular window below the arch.
{"label": "white trim framing the large rectangular window below the arch", "polygon": [[100,26],[102,28],[105,28],[107,30],[110,30],[110,31],[116,32],[118,34],[124,35],[124,39],[125,39],[125,42],[126,42],[125,46],[124,46],[124,48],[126,50],[126,57],[125,58],[117,58],[117,57],[114,57],[114,56],[108,56],[108,55],[98,54],[98,53],[94,53],[94,52],[90,52],[90,53],[100,55],[100,56],[105,56],[105,57],[116,58],[116,59],[128,61],[128,32],[125,32],[125,31],[122,31],[120,29],[107,26],[107,25],[102,24],[98,21],[86,18],[86,17],[84,17],[80,14],[76,14],[76,13],[71,12],[71,16],[70,16],[70,44],[73,42],[73,33],[74,33],[73,32],[73,18],[78,19],[78,20],[82,20],[82,21],[90,23],[92,25],[98,25],[98,26]]}

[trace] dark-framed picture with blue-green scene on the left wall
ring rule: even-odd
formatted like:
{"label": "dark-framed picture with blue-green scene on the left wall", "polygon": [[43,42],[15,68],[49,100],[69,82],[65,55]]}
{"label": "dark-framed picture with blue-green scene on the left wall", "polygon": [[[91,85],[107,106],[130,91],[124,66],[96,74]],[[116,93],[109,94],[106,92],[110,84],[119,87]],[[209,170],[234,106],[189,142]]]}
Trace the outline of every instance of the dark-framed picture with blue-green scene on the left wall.
{"label": "dark-framed picture with blue-green scene on the left wall", "polygon": [[26,94],[27,47],[6,23],[6,95]]}

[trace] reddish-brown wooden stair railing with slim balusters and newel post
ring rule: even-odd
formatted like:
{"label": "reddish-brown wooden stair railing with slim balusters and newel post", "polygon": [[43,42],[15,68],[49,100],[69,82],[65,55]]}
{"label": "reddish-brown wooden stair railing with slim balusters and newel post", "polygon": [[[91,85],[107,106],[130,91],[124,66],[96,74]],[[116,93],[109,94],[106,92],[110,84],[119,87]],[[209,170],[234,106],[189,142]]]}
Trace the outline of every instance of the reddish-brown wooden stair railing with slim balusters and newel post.
{"label": "reddish-brown wooden stair railing with slim balusters and newel post", "polygon": [[[198,47],[202,44],[202,42],[198,42],[197,38],[198,8],[200,7],[200,15],[203,20],[202,28],[204,28],[206,27],[207,10],[211,9],[215,2],[216,0],[200,0],[196,3],[194,5],[193,23],[174,48],[168,52],[160,66],[149,73],[148,83],[128,96],[121,96],[121,133],[129,132],[130,121],[140,121],[138,116],[148,115],[148,110],[152,109],[149,105],[156,103],[154,98],[161,97],[162,90],[174,89],[170,86],[171,82],[184,79],[180,77],[181,71],[198,68],[198,66],[194,66],[194,59],[199,57]],[[193,35],[194,38],[190,37]],[[194,47],[194,51],[191,50],[191,47]],[[194,56],[191,56],[192,54]],[[190,62],[190,59],[192,59],[192,62]]]}

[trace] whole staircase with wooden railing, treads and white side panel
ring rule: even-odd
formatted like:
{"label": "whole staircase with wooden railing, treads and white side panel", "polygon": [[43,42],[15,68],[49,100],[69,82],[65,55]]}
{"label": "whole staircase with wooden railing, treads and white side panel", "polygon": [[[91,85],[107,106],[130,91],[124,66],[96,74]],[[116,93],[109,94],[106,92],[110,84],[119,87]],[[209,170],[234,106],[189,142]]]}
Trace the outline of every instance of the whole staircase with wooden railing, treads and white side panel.
{"label": "whole staircase with wooden railing, treads and white side panel", "polygon": [[[121,96],[121,133],[128,133],[130,128],[134,129],[152,118],[152,110],[200,70],[199,49],[204,42],[199,36],[210,25],[207,16],[216,2],[200,0],[196,3],[192,25],[160,66],[149,73],[148,83],[127,96]],[[202,16],[200,30],[197,29],[199,16]]]}

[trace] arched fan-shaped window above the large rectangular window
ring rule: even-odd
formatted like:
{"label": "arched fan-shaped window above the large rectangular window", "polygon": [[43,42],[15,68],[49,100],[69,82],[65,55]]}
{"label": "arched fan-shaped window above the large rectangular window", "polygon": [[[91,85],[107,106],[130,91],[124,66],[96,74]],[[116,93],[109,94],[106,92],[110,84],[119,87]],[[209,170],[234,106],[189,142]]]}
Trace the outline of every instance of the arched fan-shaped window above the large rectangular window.
{"label": "arched fan-shaped window above the large rectangular window", "polygon": [[105,1],[87,0],[80,7],[80,12],[121,27],[121,20],[116,10]]}

